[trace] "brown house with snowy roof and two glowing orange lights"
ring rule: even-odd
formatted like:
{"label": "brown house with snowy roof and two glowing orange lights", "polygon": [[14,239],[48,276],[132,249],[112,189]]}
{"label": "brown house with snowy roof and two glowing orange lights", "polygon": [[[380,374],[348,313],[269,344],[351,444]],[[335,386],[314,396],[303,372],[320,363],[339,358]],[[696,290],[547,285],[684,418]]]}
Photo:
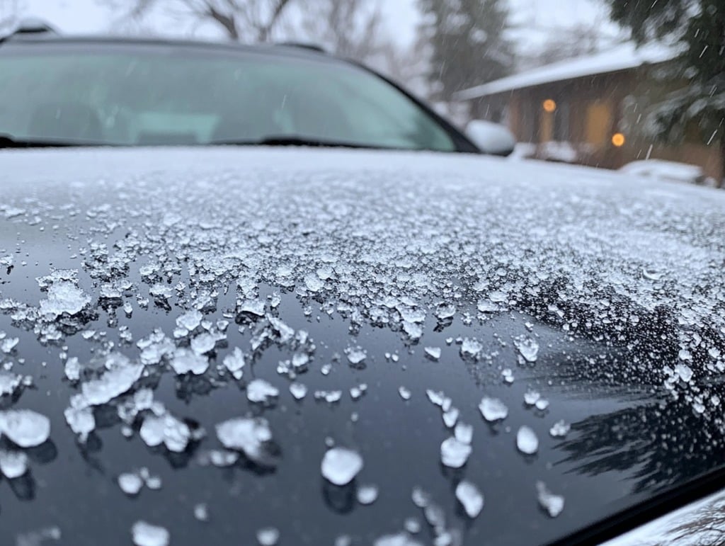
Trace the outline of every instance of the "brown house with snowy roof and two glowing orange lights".
{"label": "brown house with snowy roof and two glowing orange lights", "polygon": [[643,131],[647,107],[687,85],[653,78],[674,57],[668,47],[626,43],[465,89],[455,99],[468,104],[473,119],[506,123],[531,144],[533,157],[611,169],[657,158],[700,165],[719,179],[717,143],[707,146],[687,131],[682,144],[666,146]]}

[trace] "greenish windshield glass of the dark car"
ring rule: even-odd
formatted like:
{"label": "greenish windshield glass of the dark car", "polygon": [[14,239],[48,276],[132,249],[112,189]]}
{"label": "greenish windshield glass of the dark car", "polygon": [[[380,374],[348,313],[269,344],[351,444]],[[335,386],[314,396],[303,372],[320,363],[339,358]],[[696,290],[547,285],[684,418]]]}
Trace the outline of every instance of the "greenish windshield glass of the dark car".
{"label": "greenish windshield glass of the dark car", "polygon": [[0,133],[13,138],[144,146],[294,136],[455,150],[418,104],[342,62],[161,46],[38,49],[0,56]]}

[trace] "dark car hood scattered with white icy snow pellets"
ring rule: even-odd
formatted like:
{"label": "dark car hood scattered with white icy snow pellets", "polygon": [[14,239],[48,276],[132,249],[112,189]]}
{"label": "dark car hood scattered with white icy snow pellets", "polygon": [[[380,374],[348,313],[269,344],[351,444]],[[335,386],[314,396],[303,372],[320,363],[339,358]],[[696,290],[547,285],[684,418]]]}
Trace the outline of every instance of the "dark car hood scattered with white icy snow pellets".
{"label": "dark car hood scattered with white icy snow pellets", "polygon": [[0,402],[39,414],[0,413],[11,537],[537,544],[723,460],[725,194],[431,153],[0,164]]}

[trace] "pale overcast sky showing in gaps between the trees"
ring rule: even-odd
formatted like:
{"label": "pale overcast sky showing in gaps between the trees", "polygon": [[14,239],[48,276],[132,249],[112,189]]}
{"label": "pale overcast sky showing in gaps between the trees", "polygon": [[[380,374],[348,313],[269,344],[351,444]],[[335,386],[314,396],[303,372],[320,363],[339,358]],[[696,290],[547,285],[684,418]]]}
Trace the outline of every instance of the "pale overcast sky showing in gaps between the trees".
{"label": "pale overcast sky showing in gaps between the trees", "polygon": [[[131,1],[131,0],[129,0]],[[98,33],[109,29],[109,12],[95,0],[25,0],[26,15],[48,20],[65,33]],[[605,21],[603,30],[614,33],[606,10],[598,0],[509,0],[513,36],[520,51],[535,49],[547,34],[565,26]],[[415,0],[384,0],[390,30],[402,43],[410,43],[418,22]],[[200,31],[202,36],[204,30]]]}

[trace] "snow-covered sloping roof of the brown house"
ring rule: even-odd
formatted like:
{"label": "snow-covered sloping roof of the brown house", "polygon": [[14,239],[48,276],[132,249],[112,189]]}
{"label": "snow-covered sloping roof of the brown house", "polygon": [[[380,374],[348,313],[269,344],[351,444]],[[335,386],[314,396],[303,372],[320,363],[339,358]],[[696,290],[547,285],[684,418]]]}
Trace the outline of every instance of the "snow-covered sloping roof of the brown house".
{"label": "snow-covered sloping roof of the brown house", "polygon": [[546,65],[534,70],[507,76],[500,80],[484,83],[481,86],[471,87],[458,91],[454,97],[457,100],[477,99],[481,96],[493,95],[513,89],[539,86],[542,83],[581,78],[582,76],[605,74],[637,68],[647,63],[665,62],[676,55],[676,51],[669,46],[651,44],[637,48],[631,42],[621,44],[597,54],[567,59]]}

